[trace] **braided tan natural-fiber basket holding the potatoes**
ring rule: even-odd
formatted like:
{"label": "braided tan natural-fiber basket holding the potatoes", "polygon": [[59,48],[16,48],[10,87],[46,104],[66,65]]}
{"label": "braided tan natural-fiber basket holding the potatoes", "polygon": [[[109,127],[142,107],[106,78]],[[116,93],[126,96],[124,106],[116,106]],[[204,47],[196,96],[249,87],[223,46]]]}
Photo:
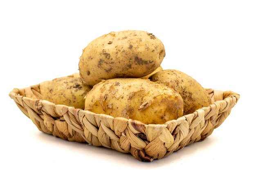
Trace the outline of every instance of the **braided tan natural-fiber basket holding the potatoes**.
{"label": "braided tan natural-fiber basket holding the potatoes", "polygon": [[227,118],[240,97],[232,91],[206,90],[211,97],[210,106],[165,124],[148,125],[42,100],[39,84],[14,88],[9,96],[45,133],[69,141],[130,152],[140,161],[153,161],[211,135]]}

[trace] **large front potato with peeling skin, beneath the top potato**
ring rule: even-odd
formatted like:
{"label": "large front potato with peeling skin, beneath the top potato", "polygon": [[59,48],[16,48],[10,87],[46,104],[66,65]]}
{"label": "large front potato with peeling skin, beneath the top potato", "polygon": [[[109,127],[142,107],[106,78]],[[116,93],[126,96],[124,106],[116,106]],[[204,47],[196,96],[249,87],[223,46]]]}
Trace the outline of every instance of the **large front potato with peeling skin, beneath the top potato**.
{"label": "large front potato with peeling skin, beneath the top potato", "polygon": [[85,110],[144,124],[164,124],[183,116],[182,97],[171,88],[148,79],[108,79],[85,97]]}

